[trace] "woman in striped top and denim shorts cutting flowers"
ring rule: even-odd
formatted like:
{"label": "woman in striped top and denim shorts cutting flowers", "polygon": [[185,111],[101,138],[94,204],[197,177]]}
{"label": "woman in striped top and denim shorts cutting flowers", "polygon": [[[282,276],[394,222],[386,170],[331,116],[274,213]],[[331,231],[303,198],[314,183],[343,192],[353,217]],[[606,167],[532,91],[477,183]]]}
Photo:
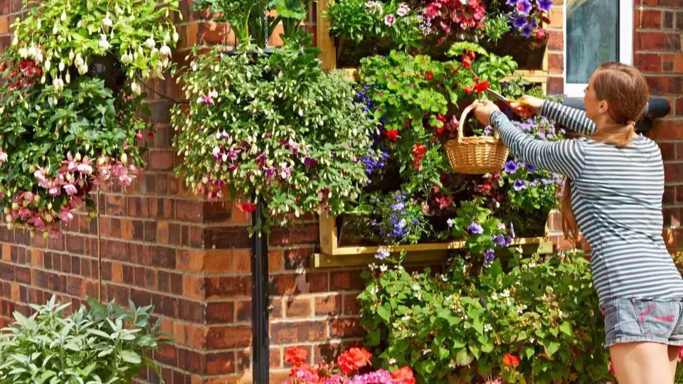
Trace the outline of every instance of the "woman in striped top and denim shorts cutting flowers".
{"label": "woman in striped top and denim shorts cutting flowers", "polygon": [[591,245],[605,346],[619,383],[673,383],[683,345],[683,279],[662,238],[662,154],[635,134],[647,82],[630,65],[605,63],[585,94],[585,113],[524,97],[533,112],[586,136],[579,139],[533,139],[492,102],[478,102],[475,114],[521,160],[567,177],[562,228],[575,241],[580,230]]}

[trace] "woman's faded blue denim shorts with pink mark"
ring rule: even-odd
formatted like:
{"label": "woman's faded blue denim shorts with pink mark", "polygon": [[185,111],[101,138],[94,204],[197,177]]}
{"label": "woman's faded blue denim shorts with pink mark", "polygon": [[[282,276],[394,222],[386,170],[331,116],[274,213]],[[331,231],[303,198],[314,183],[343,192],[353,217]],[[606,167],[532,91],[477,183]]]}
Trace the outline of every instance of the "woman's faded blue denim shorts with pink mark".
{"label": "woman's faded blue denim shorts with pink mark", "polygon": [[683,299],[613,299],[603,304],[605,347],[650,341],[683,346]]}

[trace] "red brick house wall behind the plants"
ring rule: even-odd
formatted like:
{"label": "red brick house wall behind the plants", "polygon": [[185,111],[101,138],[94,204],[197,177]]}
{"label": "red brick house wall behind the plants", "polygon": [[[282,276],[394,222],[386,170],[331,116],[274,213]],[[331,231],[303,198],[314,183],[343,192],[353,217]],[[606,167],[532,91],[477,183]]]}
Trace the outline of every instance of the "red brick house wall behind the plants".
{"label": "red brick house wall behind the plants", "polygon": [[[683,208],[678,157],[683,158],[683,2],[658,1],[636,1],[635,62],[650,79],[653,93],[672,101],[672,115],[650,134],[662,146],[667,164],[665,217],[670,226],[678,224]],[[20,9],[21,0],[0,0],[0,48],[9,44],[8,25]],[[194,45],[233,43],[229,28],[192,13],[190,0],[182,1],[181,9],[176,59]],[[563,73],[561,0],[556,0],[551,18],[549,91],[557,93],[562,92]],[[308,24],[314,30],[314,17]],[[178,95],[172,80],[152,86],[169,97]],[[166,383],[250,383],[248,218],[228,203],[208,204],[189,196],[172,173],[178,159],[170,147],[171,103],[158,96],[150,102],[157,134],[149,140],[149,169],[130,191],[106,191],[101,199],[102,299],[154,304],[164,315],[164,330],[176,338],[154,355]],[[672,233],[672,240],[680,240],[681,234]],[[49,242],[0,227],[0,242],[0,325],[11,321],[12,311],[28,314],[26,304],[43,303],[52,294],[74,306],[85,295],[97,297],[95,221],[88,224],[79,216],[62,239]],[[277,228],[270,239],[273,378],[286,375],[287,346],[305,346],[314,362],[362,337],[355,299],[364,287],[361,269],[310,268],[317,242],[315,220],[290,230]],[[142,380],[155,378],[145,373]]]}

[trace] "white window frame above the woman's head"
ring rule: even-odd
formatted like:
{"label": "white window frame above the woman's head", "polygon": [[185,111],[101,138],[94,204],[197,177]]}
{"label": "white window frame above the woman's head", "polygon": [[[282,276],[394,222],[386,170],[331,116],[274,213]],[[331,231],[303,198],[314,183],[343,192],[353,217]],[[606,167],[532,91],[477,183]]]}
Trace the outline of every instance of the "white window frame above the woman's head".
{"label": "white window frame above the woman's head", "polygon": [[[619,61],[624,64],[633,64],[633,0],[619,1]],[[583,97],[583,90],[588,84],[567,82],[567,1],[563,1],[564,27],[562,38],[564,41],[564,94],[567,97]]]}

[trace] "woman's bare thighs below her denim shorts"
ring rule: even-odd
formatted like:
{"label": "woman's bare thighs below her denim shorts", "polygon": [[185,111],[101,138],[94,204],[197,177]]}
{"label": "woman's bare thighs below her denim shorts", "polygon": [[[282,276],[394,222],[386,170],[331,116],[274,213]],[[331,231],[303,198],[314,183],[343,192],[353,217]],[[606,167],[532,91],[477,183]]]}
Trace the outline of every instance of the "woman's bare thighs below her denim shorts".
{"label": "woman's bare thighs below her denim shorts", "polygon": [[623,343],[610,347],[619,384],[673,384],[669,348],[660,343]]}

